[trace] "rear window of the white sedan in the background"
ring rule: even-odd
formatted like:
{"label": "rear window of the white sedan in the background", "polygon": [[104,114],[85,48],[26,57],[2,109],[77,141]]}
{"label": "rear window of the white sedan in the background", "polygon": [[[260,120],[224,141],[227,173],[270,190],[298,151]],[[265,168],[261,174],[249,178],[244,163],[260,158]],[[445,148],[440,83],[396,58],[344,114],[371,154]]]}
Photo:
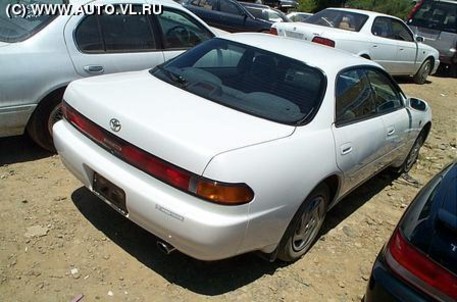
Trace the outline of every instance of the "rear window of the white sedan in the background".
{"label": "rear window of the white sedan in the background", "polygon": [[360,13],[345,10],[324,9],[312,15],[304,22],[358,32],[367,19],[367,15]]}

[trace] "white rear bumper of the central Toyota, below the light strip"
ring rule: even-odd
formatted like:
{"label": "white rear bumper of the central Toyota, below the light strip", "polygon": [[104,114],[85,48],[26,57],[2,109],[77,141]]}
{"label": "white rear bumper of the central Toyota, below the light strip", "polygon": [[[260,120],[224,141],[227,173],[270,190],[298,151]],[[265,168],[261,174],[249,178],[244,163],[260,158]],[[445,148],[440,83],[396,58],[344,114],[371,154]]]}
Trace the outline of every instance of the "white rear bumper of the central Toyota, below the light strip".
{"label": "white rear bumper of the central Toyota, below the light strip", "polygon": [[94,191],[96,172],[125,192],[129,220],[197,259],[240,253],[249,204],[221,206],[166,185],[100,148],[66,121],[54,125],[53,135],[62,162],[89,190]]}

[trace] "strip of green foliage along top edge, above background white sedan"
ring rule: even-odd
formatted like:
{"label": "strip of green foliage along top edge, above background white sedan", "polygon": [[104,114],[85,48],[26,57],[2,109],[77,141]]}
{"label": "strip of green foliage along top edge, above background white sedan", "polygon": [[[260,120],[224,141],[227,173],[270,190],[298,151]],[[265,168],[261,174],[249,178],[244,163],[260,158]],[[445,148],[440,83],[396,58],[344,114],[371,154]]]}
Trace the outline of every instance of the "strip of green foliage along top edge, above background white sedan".
{"label": "strip of green foliage along top edge, above background white sedan", "polygon": [[411,0],[299,0],[299,10],[318,12],[326,7],[341,7],[372,10],[405,19],[413,7]]}

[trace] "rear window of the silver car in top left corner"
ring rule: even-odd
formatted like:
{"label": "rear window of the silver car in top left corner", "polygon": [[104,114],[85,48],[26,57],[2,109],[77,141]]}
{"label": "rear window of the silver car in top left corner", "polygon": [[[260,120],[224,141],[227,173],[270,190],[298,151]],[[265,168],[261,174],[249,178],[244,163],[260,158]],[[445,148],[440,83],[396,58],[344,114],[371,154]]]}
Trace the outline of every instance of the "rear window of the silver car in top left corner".
{"label": "rear window of the silver car in top left corner", "polygon": [[[30,5],[56,5],[67,2],[68,1],[65,0],[0,1],[0,41],[13,43],[26,40],[27,38],[43,29],[57,16],[55,14],[42,14],[40,16],[33,15],[30,9]],[[22,16],[23,8],[28,8],[28,12],[24,14],[24,17]]]}

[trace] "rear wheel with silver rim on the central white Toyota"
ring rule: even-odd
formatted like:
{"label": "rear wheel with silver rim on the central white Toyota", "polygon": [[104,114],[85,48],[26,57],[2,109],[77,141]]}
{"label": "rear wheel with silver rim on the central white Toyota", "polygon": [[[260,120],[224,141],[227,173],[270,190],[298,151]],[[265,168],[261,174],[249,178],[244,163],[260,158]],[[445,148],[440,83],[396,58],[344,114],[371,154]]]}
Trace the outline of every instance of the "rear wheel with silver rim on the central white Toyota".
{"label": "rear wheel with silver rim on the central white Toyota", "polygon": [[315,188],[298,209],[278,247],[278,258],[285,262],[300,259],[316,241],[327,214],[330,190],[326,184]]}

